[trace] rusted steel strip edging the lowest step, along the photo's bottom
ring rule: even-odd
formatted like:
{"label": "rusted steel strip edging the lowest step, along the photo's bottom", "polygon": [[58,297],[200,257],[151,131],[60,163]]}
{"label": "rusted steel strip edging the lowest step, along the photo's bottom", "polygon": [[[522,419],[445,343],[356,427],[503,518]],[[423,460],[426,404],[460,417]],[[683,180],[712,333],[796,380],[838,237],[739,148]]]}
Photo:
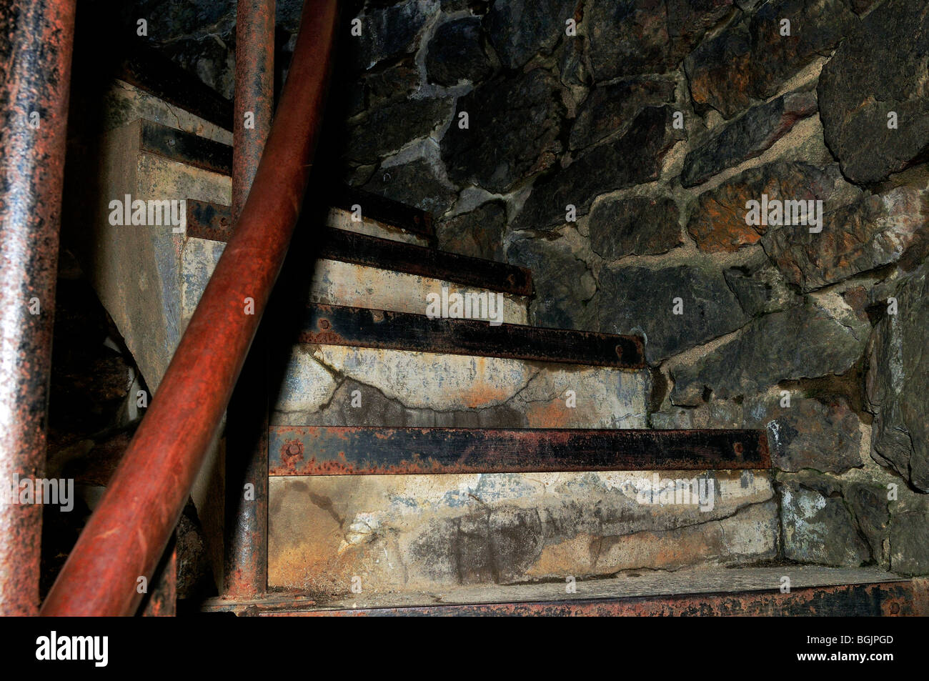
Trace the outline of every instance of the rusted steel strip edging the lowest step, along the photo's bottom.
{"label": "rusted steel strip edging the lowest step, along the photo's bottom", "polygon": [[[303,606],[306,608],[306,606]],[[231,611],[236,611],[232,609]],[[777,591],[629,596],[526,603],[483,603],[370,609],[264,609],[239,614],[281,617],[924,617],[925,593],[913,581],[805,586]]]}

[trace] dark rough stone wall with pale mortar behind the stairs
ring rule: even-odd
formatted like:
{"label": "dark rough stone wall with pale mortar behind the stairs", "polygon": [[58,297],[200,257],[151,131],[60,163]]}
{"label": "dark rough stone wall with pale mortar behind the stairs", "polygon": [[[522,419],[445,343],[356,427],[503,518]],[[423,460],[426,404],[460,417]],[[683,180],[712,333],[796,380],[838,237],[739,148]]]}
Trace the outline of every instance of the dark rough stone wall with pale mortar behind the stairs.
{"label": "dark rough stone wall with pale mortar behind the stairs", "polygon": [[[229,96],[234,3],[142,5]],[[299,3],[278,5],[286,59]],[[782,558],[929,573],[924,0],[347,15],[327,124],[348,182],[531,268],[533,323],[643,334],[650,426],[766,428]],[[749,224],[764,197],[821,205],[821,230]]]}

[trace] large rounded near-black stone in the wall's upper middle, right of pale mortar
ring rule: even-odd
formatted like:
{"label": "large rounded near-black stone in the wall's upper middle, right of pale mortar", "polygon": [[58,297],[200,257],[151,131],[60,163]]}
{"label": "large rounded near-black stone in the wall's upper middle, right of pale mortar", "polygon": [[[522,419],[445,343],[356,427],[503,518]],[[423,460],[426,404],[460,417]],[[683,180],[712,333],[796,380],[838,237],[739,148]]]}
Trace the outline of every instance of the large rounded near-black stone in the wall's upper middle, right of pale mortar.
{"label": "large rounded near-black stone in the wall's upper middle, right of pale mortar", "polygon": [[[560,85],[543,69],[500,76],[458,100],[441,142],[449,177],[494,192],[556,163],[564,106]],[[460,114],[468,127],[459,127]]]}

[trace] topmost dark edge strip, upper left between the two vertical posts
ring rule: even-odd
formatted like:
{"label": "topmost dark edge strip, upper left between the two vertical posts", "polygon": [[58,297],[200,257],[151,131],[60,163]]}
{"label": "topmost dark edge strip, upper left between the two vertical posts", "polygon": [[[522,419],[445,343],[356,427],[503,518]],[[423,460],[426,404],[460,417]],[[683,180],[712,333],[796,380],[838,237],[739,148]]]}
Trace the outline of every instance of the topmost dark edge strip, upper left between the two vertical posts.
{"label": "topmost dark edge strip, upper left between the two vertical posts", "polygon": [[114,76],[204,121],[232,129],[232,102],[140,40],[127,41]]}

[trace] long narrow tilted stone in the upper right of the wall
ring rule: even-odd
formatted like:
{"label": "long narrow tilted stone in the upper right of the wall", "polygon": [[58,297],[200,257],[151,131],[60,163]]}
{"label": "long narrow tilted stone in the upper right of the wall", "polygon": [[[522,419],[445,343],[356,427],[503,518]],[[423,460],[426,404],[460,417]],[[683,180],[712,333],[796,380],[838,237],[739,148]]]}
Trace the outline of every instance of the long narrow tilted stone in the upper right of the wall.
{"label": "long narrow tilted stone in the upper right of the wall", "polygon": [[797,121],[816,110],[816,94],[813,92],[792,92],[752,107],[700,147],[687,153],[681,170],[681,183],[685,187],[694,187],[726,168],[760,156]]}

